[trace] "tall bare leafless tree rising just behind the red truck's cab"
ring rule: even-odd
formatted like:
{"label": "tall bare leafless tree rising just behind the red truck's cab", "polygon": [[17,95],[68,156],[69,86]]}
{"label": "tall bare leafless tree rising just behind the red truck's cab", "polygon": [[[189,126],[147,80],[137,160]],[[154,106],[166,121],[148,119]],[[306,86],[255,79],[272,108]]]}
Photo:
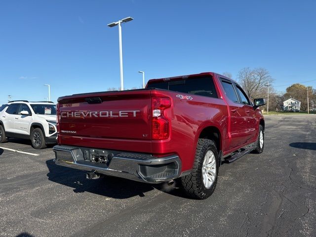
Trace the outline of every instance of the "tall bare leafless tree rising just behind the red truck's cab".
{"label": "tall bare leafless tree rising just behind the red truck's cab", "polygon": [[251,100],[257,98],[264,91],[268,81],[269,83],[273,81],[269,71],[265,68],[243,68],[238,73],[238,79]]}

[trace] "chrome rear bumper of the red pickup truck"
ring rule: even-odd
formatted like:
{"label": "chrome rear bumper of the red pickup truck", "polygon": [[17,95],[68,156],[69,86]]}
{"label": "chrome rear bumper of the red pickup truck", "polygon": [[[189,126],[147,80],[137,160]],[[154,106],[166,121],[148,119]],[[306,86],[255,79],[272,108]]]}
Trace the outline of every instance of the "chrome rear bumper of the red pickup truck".
{"label": "chrome rear bumper of the red pickup truck", "polygon": [[58,165],[146,183],[173,180],[181,174],[181,160],[177,155],[155,157],[141,153],[59,145],[54,146],[53,151]]}

